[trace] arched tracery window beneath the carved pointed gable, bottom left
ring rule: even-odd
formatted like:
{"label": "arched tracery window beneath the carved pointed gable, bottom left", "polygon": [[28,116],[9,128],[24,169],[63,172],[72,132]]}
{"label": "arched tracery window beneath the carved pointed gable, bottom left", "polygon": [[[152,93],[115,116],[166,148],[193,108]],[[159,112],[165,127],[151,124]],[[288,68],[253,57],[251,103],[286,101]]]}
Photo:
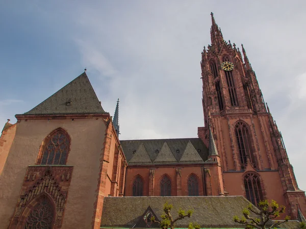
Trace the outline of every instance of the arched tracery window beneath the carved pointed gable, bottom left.
{"label": "arched tracery window beneath the carved pointed gable, bottom left", "polygon": [[54,220],[54,210],[50,202],[43,198],[38,202],[25,220],[25,229],[51,229]]}

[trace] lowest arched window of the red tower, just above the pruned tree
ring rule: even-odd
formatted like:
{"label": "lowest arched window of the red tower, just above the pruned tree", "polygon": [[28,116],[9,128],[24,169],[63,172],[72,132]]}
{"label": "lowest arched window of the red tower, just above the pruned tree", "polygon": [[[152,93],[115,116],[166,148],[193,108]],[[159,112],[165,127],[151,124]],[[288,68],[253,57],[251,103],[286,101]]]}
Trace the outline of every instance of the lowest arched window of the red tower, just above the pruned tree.
{"label": "lowest arched window of the red tower, just above the pruned tree", "polygon": [[246,198],[253,205],[257,206],[263,200],[263,191],[260,183],[260,177],[256,174],[246,174],[244,176],[244,189]]}

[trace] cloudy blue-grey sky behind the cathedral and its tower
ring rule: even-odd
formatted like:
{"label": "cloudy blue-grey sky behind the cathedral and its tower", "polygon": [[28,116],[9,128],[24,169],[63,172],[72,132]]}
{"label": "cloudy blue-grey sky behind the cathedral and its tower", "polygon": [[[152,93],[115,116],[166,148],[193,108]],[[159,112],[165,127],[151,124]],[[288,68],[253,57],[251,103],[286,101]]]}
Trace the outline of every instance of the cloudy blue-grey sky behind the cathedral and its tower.
{"label": "cloudy blue-grey sky behind the cathedral and its tower", "polygon": [[121,139],[196,137],[200,53],[213,11],[224,39],[244,44],[306,190],[305,8],[305,1],[2,1],[0,123],[14,123],[86,67],[111,115],[120,98]]}

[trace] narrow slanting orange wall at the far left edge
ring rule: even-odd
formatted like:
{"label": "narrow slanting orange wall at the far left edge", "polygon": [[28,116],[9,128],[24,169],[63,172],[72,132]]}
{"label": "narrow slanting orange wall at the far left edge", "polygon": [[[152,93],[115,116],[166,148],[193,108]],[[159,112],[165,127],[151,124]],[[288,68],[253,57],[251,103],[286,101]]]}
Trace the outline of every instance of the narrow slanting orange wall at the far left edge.
{"label": "narrow slanting orange wall at the far left edge", "polygon": [[8,127],[0,137],[0,175],[7,160],[16,133],[16,124]]}

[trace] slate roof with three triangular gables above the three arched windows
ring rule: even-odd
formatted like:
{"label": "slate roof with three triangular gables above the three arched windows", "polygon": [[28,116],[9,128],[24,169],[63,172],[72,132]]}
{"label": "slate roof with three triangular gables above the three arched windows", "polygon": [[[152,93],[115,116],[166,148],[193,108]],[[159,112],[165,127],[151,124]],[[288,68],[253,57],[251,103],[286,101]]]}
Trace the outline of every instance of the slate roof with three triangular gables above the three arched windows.
{"label": "slate roof with three triangular gables above the three arched windows", "polygon": [[120,140],[120,144],[129,165],[204,163],[208,159],[200,138]]}

